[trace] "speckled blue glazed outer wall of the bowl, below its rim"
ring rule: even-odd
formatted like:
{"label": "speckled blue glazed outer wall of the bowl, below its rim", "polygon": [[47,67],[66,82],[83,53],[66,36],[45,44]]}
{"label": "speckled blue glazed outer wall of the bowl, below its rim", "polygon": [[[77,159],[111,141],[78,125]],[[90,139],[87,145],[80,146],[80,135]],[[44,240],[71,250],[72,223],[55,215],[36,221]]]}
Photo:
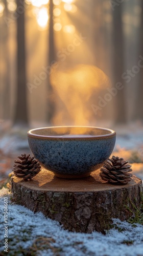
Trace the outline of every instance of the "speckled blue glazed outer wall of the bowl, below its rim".
{"label": "speckled blue glazed outer wall of the bowl, below its rim", "polygon": [[99,169],[111,155],[115,134],[89,138],[37,138],[28,134],[30,149],[44,168],[61,178],[81,178]]}

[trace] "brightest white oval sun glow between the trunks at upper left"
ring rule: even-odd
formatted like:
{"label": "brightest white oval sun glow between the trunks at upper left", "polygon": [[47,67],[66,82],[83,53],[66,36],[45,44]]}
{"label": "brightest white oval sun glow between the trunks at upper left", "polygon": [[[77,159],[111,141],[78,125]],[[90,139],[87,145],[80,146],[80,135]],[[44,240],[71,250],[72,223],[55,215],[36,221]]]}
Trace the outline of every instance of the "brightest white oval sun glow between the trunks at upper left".
{"label": "brightest white oval sun glow between the trunks at upper left", "polygon": [[43,7],[38,11],[37,23],[41,28],[45,28],[47,26],[48,20],[49,15],[47,13],[47,8]]}

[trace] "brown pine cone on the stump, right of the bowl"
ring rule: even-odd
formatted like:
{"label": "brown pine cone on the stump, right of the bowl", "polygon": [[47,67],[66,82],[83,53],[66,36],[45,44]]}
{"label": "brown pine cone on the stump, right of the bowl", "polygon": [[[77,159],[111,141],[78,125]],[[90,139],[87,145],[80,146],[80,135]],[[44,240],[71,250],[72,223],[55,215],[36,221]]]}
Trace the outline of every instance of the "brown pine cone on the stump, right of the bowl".
{"label": "brown pine cone on the stump, right of the bowl", "polygon": [[104,163],[101,168],[100,177],[113,184],[127,184],[132,177],[131,165],[123,158],[112,156]]}

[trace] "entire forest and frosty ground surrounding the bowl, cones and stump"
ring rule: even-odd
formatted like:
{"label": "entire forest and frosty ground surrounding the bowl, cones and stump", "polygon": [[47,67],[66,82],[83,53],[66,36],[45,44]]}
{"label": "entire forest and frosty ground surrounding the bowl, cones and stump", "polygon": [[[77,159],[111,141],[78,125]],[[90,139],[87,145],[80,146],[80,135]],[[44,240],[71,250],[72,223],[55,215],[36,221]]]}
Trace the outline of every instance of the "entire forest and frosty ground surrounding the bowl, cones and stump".
{"label": "entire forest and frosty ground surrounding the bowl, cones and stump", "polygon": [[[0,188],[11,189],[14,159],[30,153],[27,131],[51,125],[114,129],[112,154],[143,180],[142,83],[142,0],[0,0]],[[143,253],[142,211],[103,235],[8,207],[11,255]]]}

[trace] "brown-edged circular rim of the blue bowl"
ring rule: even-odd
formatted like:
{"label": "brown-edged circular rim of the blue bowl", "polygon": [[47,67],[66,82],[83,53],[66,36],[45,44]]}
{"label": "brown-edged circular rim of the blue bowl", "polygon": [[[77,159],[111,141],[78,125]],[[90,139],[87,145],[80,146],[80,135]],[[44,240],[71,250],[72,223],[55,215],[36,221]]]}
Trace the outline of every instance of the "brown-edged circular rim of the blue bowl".
{"label": "brown-edged circular rim of the blue bowl", "polygon": [[[62,136],[62,135],[39,135],[39,134],[33,134],[32,132],[34,131],[39,131],[42,129],[52,129],[52,128],[60,128],[60,127],[65,127],[65,128],[69,128],[69,127],[85,127],[85,128],[96,128],[99,130],[104,130],[104,131],[108,131],[110,133],[108,134],[102,134],[102,135],[84,135],[83,137],[79,137],[79,135],[73,136],[71,137],[71,135],[67,135],[66,137]],[[47,127],[40,127],[40,128],[36,128],[36,129],[31,129],[30,131],[28,131],[28,137],[34,137],[34,138],[41,138],[41,139],[46,139],[46,138],[51,138],[51,139],[86,139],[86,138],[104,138],[104,137],[110,137],[110,136],[115,136],[116,132],[112,129],[108,129],[108,128],[104,128],[104,127],[98,127],[98,126],[82,126],[82,125],[63,125],[63,126],[47,126]]]}

